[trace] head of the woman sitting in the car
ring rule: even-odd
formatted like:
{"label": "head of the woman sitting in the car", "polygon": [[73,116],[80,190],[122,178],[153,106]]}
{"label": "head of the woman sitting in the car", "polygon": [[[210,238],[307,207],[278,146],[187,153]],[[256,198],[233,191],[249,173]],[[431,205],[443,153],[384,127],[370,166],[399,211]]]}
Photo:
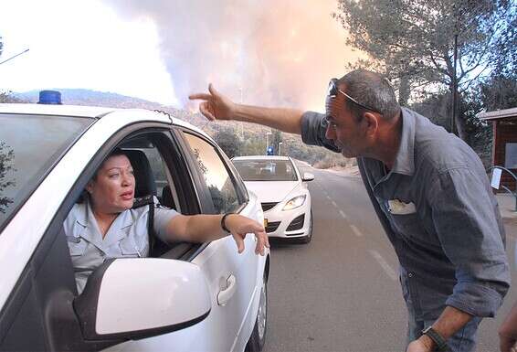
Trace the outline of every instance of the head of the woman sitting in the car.
{"label": "head of the woman sitting in the car", "polygon": [[114,155],[104,161],[86,190],[94,211],[112,214],[132,208],[134,175],[127,156]]}

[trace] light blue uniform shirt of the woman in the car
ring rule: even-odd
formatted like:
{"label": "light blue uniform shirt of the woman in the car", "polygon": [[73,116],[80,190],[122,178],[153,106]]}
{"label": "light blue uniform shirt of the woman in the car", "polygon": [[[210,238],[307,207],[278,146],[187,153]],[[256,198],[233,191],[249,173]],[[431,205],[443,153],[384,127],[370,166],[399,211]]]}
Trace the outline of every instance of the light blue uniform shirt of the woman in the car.
{"label": "light blue uniform shirt of the woman in the car", "polygon": [[[76,204],[63,222],[70,256],[74,265],[79,294],[88,277],[106,259],[139,258],[149,255],[147,219],[149,206],[122,211],[113,221],[104,239],[90,203]],[[167,223],[178,213],[173,209],[154,208],[154,233],[165,240]]]}

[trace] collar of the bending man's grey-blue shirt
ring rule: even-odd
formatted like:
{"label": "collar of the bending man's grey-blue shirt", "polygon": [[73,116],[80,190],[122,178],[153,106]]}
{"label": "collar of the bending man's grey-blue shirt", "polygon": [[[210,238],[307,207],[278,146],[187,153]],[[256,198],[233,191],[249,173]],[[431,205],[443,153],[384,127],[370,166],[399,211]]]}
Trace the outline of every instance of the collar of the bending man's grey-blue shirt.
{"label": "collar of the bending man's grey-blue shirt", "polygon": [[407,176],[415,173],[415,116],[406,108],[401,109],[402,134],[392,172]]}

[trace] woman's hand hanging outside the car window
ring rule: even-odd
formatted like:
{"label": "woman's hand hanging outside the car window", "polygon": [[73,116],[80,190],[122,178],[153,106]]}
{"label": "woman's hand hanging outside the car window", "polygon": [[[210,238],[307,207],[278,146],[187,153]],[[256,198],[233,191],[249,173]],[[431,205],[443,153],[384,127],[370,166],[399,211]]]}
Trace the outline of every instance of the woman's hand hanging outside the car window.
{"label": "woman's hand hanging outside the car window", "polygon": [[254,233],[257,237],[257,246],[255,247],[256,254],[264,255],[264,248],[269,248],[268,234],[264,226],[257,221],[243,217],[242,215],[229,214],[225,219],[225,226],[229,229],[236,241],[237,251],[239,253],[244,251],[244,239],[247,233]]}

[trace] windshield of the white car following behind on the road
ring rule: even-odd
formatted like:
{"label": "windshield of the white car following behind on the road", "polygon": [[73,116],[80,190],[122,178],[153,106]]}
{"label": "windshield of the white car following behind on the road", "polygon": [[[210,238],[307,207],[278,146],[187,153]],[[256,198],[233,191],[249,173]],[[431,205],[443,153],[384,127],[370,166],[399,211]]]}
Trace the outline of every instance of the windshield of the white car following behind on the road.
{"label": "windshield of the white car following behind on the road", "polygon": [[245,181],[297,181],[290,160],[234,160],[233,164]]}

